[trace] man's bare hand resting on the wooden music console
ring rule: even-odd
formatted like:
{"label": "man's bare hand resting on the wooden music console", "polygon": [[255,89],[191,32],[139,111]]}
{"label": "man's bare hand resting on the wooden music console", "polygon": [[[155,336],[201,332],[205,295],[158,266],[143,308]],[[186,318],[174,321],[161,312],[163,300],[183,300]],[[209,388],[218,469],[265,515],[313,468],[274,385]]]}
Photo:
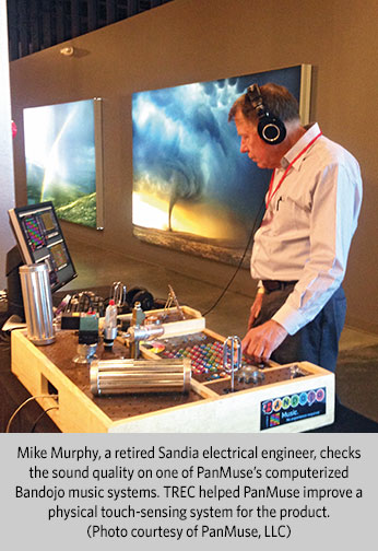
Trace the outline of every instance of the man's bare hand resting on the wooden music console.
{"label": "man's bare hand resting on the wooden music console", "polygon": [[270,319],[261,326],[249,329],[241,341],[241,350],[253,360],[267,361],[286,337],[286,329],[273,319]]}

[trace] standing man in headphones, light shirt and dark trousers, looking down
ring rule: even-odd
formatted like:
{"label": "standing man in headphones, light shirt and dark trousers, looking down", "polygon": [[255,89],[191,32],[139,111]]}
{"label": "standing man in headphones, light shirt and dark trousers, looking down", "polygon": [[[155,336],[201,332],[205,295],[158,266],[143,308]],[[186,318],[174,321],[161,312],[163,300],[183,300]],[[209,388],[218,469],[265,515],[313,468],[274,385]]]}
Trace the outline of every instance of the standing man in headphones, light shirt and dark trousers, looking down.
{"label": "standing man in headphones, light shirt and dark trousers, looking down", "polygon": [[296,99],[276,84],[250,86],[228,120],[240,152],[273,169],[255,235],[251,276],[259,283],[243,351],[334,371],[346,309],[341,282],[362,201],[358,163],[317,124],[304,128]]}

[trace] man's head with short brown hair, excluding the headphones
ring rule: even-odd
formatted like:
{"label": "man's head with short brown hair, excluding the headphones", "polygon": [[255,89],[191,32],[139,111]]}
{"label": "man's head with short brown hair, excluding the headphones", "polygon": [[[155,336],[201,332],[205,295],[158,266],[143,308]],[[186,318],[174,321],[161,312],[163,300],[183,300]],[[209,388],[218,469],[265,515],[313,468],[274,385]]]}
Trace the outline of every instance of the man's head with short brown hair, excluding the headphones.
{"label": "man's head with short brown hair, excluding the headphones", "polygon": [[286,127],[286,138],[279,144],[265,143],[258,133],[259,116],[250,94],[243,94],[232,106],[228,120],[234,120],[240,136],[240,151],[248,153],[251,161],[260,168],[280,166],[282,156],[298,139],[300,127],[298,103],[284,86],[269,83],[260,87],[265,109],[273,117],[280,118]]}

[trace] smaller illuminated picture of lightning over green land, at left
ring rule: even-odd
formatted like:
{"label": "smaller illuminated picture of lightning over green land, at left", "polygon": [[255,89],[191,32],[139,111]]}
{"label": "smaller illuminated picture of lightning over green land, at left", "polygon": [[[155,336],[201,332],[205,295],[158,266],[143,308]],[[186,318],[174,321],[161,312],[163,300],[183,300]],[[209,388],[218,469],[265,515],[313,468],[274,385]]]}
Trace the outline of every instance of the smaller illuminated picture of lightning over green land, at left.
{"label": "smaller illuminated picture of lightning over green land, at left", "polygon": [[103,227],[101,99],[24,109],[27,203]]}

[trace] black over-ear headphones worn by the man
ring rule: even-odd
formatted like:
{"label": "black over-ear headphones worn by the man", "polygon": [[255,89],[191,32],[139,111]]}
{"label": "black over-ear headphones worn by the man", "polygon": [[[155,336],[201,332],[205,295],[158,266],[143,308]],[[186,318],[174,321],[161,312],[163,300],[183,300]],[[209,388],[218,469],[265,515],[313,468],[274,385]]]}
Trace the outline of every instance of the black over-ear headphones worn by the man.
{"label": "black over-ear headphones worn by the man", "polygon": [[261,140],[270,145],[281,143],[286,137],[285,125],[280,118],[269,113],[269,109],[263,104],[259,86],[257,84],[249,86],[246,96],[258,116],[259,122],[257,129]]}

